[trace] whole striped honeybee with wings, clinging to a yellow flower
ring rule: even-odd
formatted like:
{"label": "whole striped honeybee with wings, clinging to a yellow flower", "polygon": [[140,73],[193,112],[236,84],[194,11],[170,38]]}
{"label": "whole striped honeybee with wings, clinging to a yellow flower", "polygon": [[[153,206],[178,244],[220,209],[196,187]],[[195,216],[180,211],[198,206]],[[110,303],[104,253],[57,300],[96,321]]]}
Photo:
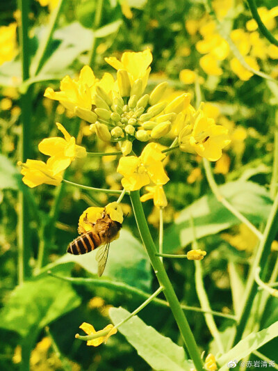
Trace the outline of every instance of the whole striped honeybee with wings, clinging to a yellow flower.
{"label": "whole striped honeybee with wings, clinging to a yellow flower", "polygon": [[122,224],[118,221],[113,221],[108,214],[104,211],[101,219],[97,219],[96,223],[91,223],[85,215],[83,222],[89,224],[92,230],[85,232],[85,230],[79,226],[79,237],[74,239],[69,246],[67,246],[67,252],[80,255],[89,253],[95,248],[99,247],[97,251],[97,274],[99,277],[104,273],[106,266],[110,243],[117,238],[118,232],[122,228]]}

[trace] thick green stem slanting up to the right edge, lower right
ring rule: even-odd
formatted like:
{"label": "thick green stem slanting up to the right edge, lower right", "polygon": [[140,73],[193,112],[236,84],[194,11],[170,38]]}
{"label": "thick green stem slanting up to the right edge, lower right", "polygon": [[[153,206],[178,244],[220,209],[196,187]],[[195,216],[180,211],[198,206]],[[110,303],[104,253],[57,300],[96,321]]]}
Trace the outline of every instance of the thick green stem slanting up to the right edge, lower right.
{"label": "thick green stem slanting up to the right edge, lower right", "polygon": [[268,260],[268,256],[270,254],[271,244],[273,239],[275,239],[277,230],[278,230],[278,194],[275,197],[275,201],[272,205],[270,215],[268,216],[268,221],[263,232],[263,238],[261,239],[259,247],[256,251],[256,256],[254,257],[250,275],[247,280],[245,296],[243,299],[243,310],[241,312],[240,319],[238,322],[236,336],[234,337],[234,345],[236,345],[243,336],[245,324],[247,323],[247,319],[250,315],[250,310],[252,308],[254,297],[256,296],[257,285],[254,279],[256,269],[258,267],[261,267],[262,270],[264,269],[265,264]]}

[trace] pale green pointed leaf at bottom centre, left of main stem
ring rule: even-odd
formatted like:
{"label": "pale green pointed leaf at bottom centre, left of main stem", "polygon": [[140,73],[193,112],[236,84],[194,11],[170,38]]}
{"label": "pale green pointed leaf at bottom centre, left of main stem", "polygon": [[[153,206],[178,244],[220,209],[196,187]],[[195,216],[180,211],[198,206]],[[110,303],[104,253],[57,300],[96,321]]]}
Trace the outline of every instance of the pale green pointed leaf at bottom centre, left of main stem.
{"label": "pale green pointed leaf at bottom centre, left of main stem", "polygon": [[[117,324],[130,313],[124,308],[111,308],[109,315],[113,324]],[[118,330],[154,370],[189,371],[184,349],[158,333],[152,326],[147,326],[137,315],[122,324]]]}

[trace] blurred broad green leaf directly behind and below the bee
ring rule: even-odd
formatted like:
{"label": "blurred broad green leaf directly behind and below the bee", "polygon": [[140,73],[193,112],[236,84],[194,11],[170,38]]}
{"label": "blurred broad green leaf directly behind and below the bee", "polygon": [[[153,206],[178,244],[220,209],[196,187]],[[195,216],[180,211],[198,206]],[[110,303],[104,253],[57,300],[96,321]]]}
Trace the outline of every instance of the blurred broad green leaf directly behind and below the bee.
{"label": "blurred broad green leaf directly behind and below the bee", "polygon": [[[59,265],[72,263],[70,269],[76,263],[90,274],[97,274],[96,253],[97,249],[83,255],[67,253],[56,262],[47,265],[44,271],[49,269],[57,271]],[[152,282],[149,258],[142,244],[127,230],[121,230],[120,238],[111,242],[103,276],[149,292]]]}

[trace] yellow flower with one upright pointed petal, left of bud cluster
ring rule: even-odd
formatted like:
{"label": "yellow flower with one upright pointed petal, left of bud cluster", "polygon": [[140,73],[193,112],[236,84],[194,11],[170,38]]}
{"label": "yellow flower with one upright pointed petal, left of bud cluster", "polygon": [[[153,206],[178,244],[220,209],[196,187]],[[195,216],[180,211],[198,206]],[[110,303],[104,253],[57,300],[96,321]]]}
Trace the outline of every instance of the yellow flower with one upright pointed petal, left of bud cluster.
{"label": "yellow flower with one upright pointed petal, left of bud cluster", "polygon": [[74,136],[70,136],[65,127],[56,123],[58,129],[64,134],[65,139],[58,136],[43,139],[39,144],[39,150],[44,155],[51,156],[47,161],[54,174],[65,170],[76,157],[85,157],[86,150],[81,145],[76,145]]}

